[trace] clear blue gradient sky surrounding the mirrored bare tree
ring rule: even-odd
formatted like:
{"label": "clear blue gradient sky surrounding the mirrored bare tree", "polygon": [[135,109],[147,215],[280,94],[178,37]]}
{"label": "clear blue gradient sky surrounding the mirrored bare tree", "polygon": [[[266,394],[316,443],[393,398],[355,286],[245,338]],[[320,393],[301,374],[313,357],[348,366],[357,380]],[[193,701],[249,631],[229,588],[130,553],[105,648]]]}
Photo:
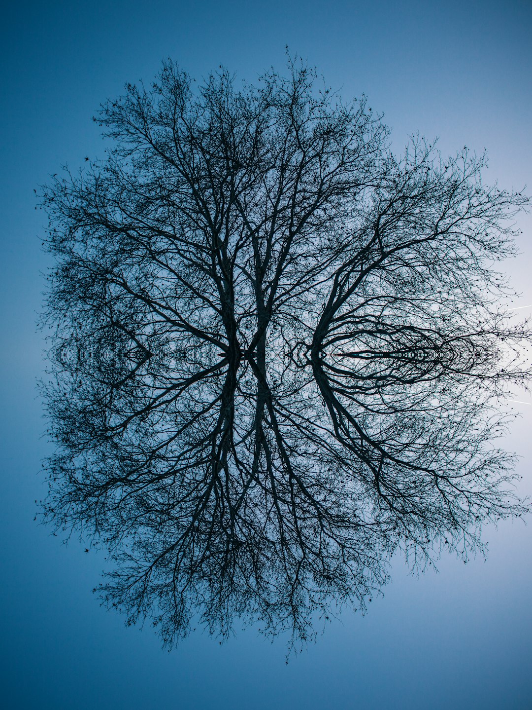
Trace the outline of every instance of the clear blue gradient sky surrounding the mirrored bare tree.
{"label": "clear blue gradient sky surrounding the mirrored bare tree", "polygon": [[[103,155],[91,121],[125,82],[171,57],[195,77],[223,64],[254,80],[285,45],[344,97],[368,96],[393,146],[439,136],[443,153],[487,148],[488,180],[532,186],[530,0],[11,3],[3,13],[0,306],[2,660],[0,703],[26,710],[171,708],[526,709],[532,707],[532,528],[487,530],[490,554],[409,576],[400,559],[368,614],[344,613],[285,665],[286,639],[251,628],[219,645],[196,633],[168,654],[148,626],[125,628],[91,589],[103,557],[33,522],[47,453],[35,393],[35,334],[47,257],[33,189]],[[529,187],[531,190],[531,187]],[[532,222],[507,266],[532,304]],[[521,311],[523,314],[528,310]],[[532,401],[526,393],[516,397]],[[532,492],[532,405],[506,446]]]}

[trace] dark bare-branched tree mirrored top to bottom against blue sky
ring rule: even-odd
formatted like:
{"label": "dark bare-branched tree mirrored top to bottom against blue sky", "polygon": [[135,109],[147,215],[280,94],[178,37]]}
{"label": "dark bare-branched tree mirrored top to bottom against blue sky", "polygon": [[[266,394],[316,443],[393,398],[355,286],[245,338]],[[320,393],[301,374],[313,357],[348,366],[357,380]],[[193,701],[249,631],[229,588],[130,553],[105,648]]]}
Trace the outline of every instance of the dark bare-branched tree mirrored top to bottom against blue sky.
{"label": "dark bare-branched tree mirrored top to bottom against blue sky", "polygon": [[467,559],[521,515],[499,399],[526,381],[509,219],[485,156],[401,158],[366,99],[289,62],[193,91],[164,63],[45,188],[45,518],[108,550],[103,600],[171,645],[191,618],[314,633],[399,549]]}

